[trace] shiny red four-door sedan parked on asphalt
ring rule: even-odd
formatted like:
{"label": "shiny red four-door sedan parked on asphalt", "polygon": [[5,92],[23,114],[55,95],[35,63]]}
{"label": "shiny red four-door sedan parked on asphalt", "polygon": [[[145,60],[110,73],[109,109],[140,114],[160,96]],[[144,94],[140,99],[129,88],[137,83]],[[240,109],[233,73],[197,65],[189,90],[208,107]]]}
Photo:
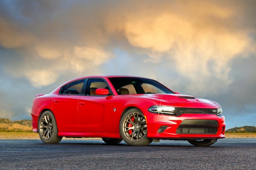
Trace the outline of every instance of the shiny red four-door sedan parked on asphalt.
{"label": "shiny red four-door sedan parked on asphalt", "polygon": [[48,95],[36,95],[33,131],[44,143],[62,137],[101,137],[149,145],[160,139],[209,146],[224,138],[225,118],[213,101],[173,92],[153,79],[86,76],[72,79]]}

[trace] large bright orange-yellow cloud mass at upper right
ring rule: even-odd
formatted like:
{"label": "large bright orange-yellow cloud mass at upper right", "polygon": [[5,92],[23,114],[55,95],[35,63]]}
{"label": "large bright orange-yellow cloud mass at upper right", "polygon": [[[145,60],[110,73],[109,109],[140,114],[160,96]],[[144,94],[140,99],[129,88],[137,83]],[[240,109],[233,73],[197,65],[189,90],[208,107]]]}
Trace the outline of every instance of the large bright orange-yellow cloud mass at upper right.
{"label": "large bright orange-yellow cloud mass at upper right", "polygon": [[[113,11],[105,27],[112,34],[122,32],[130,45],[150,57],[146,61],[174,59],[170,67],[176,67],[177,72],[190,79],[188,90],[198,94],[207,93],[209,87],[213,93],[225,91],[232,82],[228,77],[230,60],[252,45],[248,30],[226,25],[233,24],[236,9],[212,1],[179,1],[161,7],[152,10],[145,5],[121,16]],[[166,58],[161,58],[163,54]],[[210,77],[222,83],[205,81]]]}

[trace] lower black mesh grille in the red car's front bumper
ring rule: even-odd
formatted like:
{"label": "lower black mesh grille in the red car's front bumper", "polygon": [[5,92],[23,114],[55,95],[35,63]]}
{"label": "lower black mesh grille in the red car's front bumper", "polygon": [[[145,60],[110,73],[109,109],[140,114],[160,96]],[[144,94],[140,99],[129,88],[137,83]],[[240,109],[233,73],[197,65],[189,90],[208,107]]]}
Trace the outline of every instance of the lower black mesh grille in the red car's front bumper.
{"label": "lower black mesh grille in the red car's front bumper", "polygon": [[195,127],[180,126],[176,130],[177,134],[216,134],[217,127]]}

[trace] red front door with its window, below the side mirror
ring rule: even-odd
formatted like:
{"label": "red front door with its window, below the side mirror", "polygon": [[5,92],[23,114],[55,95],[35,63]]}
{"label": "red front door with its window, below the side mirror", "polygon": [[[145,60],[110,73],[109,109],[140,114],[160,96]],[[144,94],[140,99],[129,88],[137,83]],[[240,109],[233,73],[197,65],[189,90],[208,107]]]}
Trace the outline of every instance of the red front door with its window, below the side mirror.
{"label": "red front door with its window, below the side mirror", "polygon": [[111,90],[102,78],[89,78],[85,95],[79,98],[78,114],[81,132],[109,133],[111,132],[111,104],[113,96],[96,95],[96,89]]}

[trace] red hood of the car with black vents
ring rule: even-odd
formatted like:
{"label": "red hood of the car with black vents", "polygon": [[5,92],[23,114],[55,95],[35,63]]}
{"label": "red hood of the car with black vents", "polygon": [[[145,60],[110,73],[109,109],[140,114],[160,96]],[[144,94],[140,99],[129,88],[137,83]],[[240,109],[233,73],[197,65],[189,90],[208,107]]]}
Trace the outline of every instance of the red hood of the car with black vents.
{"label": "red hood of the car with black vents", "polygon": [[197,99],[189,95],[178,95],[178,94],[142,94],[134,95],[136,97],[148,98],[151,100],[158,100],[166,103],[207,103],[215,104],[216,102],[206,99]]}

